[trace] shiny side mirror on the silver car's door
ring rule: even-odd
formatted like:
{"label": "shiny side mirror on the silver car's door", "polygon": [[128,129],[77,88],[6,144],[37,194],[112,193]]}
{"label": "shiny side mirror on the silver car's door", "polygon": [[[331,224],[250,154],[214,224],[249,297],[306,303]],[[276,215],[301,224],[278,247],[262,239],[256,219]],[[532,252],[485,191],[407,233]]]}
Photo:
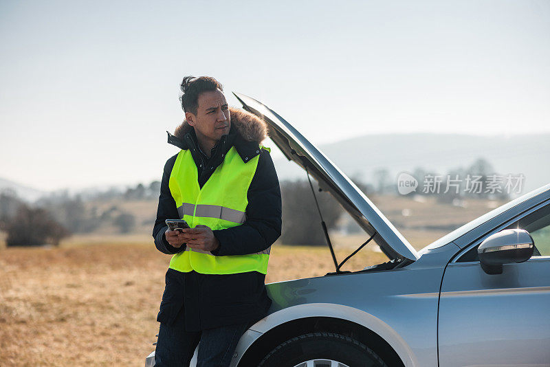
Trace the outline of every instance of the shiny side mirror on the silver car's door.
{"label": "shiny side mirror on the silver car's door", "polygon": [[477,253],[485,273],[502,274],[504,264],[523,263],[534,249],[533,237],[526,230],[503,230],[485,238]]}

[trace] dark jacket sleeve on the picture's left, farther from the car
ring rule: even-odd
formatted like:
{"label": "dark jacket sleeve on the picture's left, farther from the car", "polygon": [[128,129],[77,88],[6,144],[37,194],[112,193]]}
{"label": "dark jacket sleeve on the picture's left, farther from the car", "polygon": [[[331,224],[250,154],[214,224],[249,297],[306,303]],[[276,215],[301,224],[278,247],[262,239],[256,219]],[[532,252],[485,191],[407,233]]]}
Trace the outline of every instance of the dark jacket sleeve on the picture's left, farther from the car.
{"label": "dark jacket sleeve on the picture's left, farther from the car", "polygon": [[164,232],[168,230],[168,226],[164,221],[166,219],[179,219],[179,214],[177,213],[176,203],[172,194],[170,193],[170,188],[168,187],[168,181],[170,180],[170,173],[172,173],[172,168],[176,162],[177,155],[170,157],[166,164],[164,165],[164,173],[162,173],[162,181],[160,183],[160,195],[159,195],[159,206],[157,208],[157,219],[155,220],[155,227],[153,227],[153,238],[155,238],[155,246],[160,252],[164,254],[177,254],[178,252],[184,251],[186,245],[181,245],[181,247],[173,247],[166,241]]}

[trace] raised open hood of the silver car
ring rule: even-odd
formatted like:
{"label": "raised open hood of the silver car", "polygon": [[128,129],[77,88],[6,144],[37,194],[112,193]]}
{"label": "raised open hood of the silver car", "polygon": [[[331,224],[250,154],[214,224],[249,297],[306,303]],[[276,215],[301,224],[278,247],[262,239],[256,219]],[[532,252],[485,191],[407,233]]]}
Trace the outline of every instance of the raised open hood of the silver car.
{"label": "raised open hood of the silver car", "polygon": [[294,126],[261,102],[234,93],[243,108],[263,119],[271,140],[283,154],[307,170],[322,190],[330,192],[353,219],[380,245],[390,259],[417,260],[419,255],[386,216],[329,158],[311,144]]}

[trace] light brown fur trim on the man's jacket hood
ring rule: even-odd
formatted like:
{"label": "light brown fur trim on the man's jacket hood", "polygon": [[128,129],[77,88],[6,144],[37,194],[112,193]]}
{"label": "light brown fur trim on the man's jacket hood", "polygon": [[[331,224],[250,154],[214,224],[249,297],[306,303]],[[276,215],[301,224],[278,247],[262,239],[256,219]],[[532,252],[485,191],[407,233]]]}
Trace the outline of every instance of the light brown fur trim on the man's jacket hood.
{"label": "light brown fur trim on the man's jacket hood", "polygon": [[[231,116],[231,126],[236,130],[243,140],[247,142],[254,142],[260,144],[267,137],[267,125],[256,115],[244,111],[242,109],[234,109],[233,107],[229,108]],[[192,129],[186,120],[181,122],[177,126],[174,136],[179,140],[184,140],[184,136]]]}

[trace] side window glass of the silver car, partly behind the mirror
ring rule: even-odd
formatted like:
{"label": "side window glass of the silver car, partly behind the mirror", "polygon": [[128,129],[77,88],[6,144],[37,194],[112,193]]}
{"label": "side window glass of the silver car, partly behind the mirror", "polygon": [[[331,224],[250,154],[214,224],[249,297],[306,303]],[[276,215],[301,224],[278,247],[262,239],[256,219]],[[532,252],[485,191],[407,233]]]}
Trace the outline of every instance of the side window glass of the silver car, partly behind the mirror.
{"label": "side window glass of the silver car, partly behind the mirror", "polygon": [[[506,228],[520,228],[531,234],[536,247],[533,256],[550,256],[550,205],[545,205]],[[458,262],[479,261],[477,247],[468,250]]]}

